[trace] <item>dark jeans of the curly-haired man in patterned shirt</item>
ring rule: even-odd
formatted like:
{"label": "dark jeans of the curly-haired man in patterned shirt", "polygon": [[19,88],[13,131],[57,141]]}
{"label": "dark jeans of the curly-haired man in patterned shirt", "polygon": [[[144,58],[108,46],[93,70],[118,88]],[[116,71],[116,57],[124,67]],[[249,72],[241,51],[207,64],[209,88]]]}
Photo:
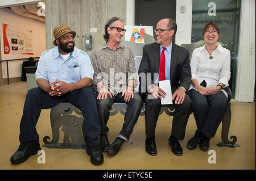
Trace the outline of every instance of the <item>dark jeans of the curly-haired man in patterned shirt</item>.
{"label": "dark jeans of the curly-haired man in patterned shirt", "polygon": [[137,123],[139,114],[141,113],[143,100],[138,93],[134,93],[134,98],[130,99],[129,102],[125,102],[122,97],[122,93],[115,95],[112,99],[108,96],[106,99],[97,100],[98,115],[101,121],[101,134],[107,134],[109,132],[107,123],[109,120],[109,111],[111,110],[114,102],[126,103],[128,105],[123,127],[121,132],[119,133],[119,136],[125,138],[126,140],[129,140],[130,135],[133,132],[134,125]]}

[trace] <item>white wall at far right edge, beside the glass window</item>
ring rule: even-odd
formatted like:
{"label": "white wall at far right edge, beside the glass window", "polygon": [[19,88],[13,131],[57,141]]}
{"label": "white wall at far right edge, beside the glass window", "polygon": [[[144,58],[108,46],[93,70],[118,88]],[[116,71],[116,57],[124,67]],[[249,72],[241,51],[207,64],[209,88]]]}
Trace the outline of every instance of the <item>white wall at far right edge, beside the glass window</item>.
{"label": "white wall at far right edge, beside the glass window", "polygon": [[[253,102],[255,85],[255,0],[241,5],[236,100]],[[253,44],[253,47],[250,47]]]}

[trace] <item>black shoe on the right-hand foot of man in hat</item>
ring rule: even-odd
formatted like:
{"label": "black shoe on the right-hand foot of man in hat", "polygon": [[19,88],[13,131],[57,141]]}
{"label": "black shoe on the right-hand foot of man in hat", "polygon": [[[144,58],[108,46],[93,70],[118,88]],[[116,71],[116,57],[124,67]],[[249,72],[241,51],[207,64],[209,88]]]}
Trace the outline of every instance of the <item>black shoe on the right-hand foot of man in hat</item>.
{"label": "black shoe on the right-hand foot of man in hat", "polygon": [[100,165],[104,162],[100,145],[86,146],[86,153],[90,155],[90,162],[94,165]]}

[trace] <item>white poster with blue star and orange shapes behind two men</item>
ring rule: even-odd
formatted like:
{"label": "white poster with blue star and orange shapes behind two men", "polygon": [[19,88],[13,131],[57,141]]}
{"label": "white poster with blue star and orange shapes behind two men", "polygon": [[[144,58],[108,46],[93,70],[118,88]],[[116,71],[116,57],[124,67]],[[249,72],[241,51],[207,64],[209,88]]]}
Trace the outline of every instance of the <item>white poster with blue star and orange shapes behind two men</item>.
{"label": "white poster with blue star and orange shapes behind two men", "polygon": [[144,43],[144,35],[154,36],[152,26],[125,26],[125,41]]}

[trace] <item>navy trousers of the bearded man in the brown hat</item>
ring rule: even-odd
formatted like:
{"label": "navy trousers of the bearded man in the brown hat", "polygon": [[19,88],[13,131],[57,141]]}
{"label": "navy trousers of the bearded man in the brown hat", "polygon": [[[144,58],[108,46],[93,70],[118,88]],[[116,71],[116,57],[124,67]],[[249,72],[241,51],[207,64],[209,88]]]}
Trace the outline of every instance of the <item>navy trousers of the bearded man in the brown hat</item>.
{"label": "navy trousers of the bearded man in the brown hat", "polygon": [[98,119],[96,98],[92,86],[74,90],[60,97],[52,97],[39,88],[28,90],[20,121],[20,143],[23,145],[38,143],[39,135],[36,132],[36,123],[41,110],[55,107],[63,102],[69,102],[81,110],[82,116],[84,116],[82,133],[86,144],[89,146],[99,144],[98,136],[100,136],[101,124]]}

